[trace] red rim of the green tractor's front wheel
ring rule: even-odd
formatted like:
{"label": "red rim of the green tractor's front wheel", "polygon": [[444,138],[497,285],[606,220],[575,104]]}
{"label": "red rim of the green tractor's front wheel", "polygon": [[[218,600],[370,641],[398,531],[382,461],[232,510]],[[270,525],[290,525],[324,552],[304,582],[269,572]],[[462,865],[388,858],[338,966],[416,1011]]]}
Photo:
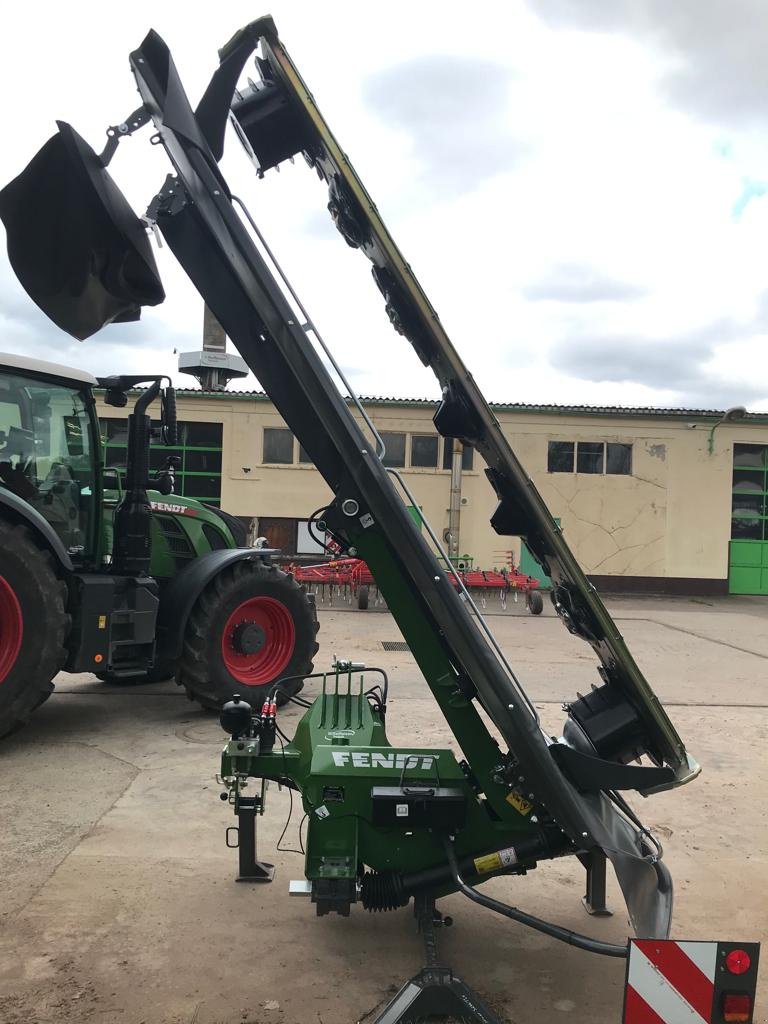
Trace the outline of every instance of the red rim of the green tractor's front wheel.
{"label": "red rim of the green tractor's front wheel", "polygon": [[[254,629],[255,627],[255,629]],[[245,630],[259,635],[258,650],[247,652],[240,639]],[[293,616],[273,597],[252,597],[229,615],[221,637],[221,656],[227,672],[246,686],[263,686],[284,671],[296,645]]]}

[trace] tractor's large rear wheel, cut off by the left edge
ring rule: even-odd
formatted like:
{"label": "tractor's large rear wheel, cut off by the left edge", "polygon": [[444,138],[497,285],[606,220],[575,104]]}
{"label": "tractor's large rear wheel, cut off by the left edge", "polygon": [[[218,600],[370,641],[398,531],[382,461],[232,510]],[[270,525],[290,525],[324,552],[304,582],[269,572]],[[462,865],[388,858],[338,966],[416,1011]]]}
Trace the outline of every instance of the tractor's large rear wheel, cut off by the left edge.
{"label": "tractor's large rear wheel, cut off by the left edge", "polygon": [[70,616],[67,584],[56,575],[53,556],[26,526],[0,521],[0,581],[4,594],[0,597],[0,736],[4,736],[23,726],[53,691],[53,677],[67,658]]}

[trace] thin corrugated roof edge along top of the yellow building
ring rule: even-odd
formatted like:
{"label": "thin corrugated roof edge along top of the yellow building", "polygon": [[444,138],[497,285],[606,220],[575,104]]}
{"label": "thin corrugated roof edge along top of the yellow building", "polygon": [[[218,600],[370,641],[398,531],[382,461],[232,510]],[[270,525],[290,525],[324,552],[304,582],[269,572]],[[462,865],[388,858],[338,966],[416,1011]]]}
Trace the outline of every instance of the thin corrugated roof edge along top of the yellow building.
{"label": "thin corrugated roof edge along top of the yellow building", "polygon": [[[133,388],[132,390],[143,391],[144,388]],[[212,398],[214,400],[227,398],[251,399],[252,401],[270,400],[265,391],[204,391],[202,388],[177,388],[176,394],[187,398]],[[347,398],[346,400],[350,401],[351,399]],[[394,396],[386,395],[360,395],[360,401],[368,406],[393,406],[398,408],[436,409],[438,406],[438,401],[435,398],[395,398]],[[558,402],[538,404],[527,401],[492,401],[489,406],[496,413],[530,413],[540,416],[610,416],[625,419],[719,420],[726,413],[724,409],[666,409],[653,406],[563,406]],[[768,422],[768,413],[748,412],[743,419],[752,422]]]}

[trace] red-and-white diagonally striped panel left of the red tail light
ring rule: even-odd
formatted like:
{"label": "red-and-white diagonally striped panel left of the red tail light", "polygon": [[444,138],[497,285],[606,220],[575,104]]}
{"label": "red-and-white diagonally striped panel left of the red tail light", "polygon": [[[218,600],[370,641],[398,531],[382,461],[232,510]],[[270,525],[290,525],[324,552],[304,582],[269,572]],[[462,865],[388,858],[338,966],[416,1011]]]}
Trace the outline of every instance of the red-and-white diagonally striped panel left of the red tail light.
{"label": "red-and-white diagonally striped panel left of the red tail light", "polygon": [[710,1024],[717,942],[633,939],[624,1024]]}

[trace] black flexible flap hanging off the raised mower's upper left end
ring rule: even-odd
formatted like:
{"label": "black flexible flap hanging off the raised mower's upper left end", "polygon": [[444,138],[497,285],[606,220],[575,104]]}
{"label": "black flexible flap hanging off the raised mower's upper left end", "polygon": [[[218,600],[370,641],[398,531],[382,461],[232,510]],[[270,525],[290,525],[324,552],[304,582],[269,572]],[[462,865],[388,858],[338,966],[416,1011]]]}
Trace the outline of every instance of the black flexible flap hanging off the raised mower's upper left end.
{"label": "black flexible flap hanging off the raised mower's upper left end", "polygon": [[165,298],[141,221],[63,121],[0,191],[8,258],[42,311],[81,341]]}

